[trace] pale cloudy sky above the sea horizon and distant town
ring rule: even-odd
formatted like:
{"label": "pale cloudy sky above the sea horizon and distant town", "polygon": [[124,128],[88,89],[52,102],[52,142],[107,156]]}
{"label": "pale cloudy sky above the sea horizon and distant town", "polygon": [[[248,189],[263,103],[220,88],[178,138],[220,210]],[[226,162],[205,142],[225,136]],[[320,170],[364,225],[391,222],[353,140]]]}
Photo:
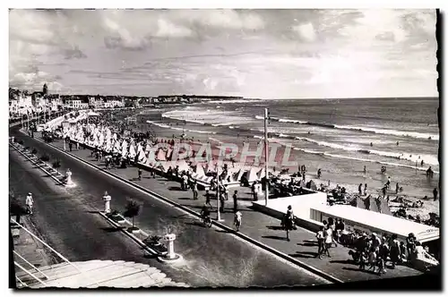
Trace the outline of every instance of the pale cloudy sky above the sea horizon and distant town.
{"label": "pale cloudy sky above the sea horizon and distant town", "polygon": [[435,10],[11,10],[9,85],[53,93],[438,97]]}

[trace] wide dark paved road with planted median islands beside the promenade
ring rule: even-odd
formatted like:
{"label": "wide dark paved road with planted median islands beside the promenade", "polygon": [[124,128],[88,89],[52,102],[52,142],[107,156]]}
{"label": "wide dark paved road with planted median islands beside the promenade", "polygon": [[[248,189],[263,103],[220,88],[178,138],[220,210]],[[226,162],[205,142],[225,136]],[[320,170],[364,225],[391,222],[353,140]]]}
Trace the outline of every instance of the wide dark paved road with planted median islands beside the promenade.
{"label": "wide dark paved road with planted median islands beside the promenade", "polygon": [[[100,174],[70,157],[48,148],[39,141],[12,134],[25,140],[25,145],[48,151],[59,158],[65,168],[76,173],[77,186],[63,189],[39,169],[23,161],[10,150],[10,187],[24,197],[35,196],[33,223],[49,244],[68,259],[123,259],[159,267],[177,282],[192,285],[274,286],[323,284],[319,277],[292,267],[263,250],[237,240],[228,233],[206,229],[185,213],[141,191]],[[11,148],[10,148],[11,149]],[[110,230],[108,223],[92,211],[102,208],[101,197],[108,191],[114,205],[124,206],[132,197],[142,203],[138,225],[151,233],[164,233],[169,225],[177,233],[176,249],[185,262],[179,267],[166,267],[155,259],[142,257],[142,250],[122,233]],[[117,209],[122,211],[123,209]]]}

